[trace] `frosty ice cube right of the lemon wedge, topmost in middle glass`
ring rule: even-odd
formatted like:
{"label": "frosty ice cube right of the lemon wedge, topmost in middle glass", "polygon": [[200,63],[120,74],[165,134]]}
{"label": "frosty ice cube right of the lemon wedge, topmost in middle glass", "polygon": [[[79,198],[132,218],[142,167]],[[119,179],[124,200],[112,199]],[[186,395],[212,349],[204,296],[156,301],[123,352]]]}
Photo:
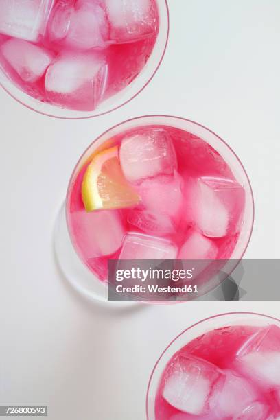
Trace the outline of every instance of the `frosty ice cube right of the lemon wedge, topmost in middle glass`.
{"label": "frosty ice cube right of the lemon wedge, topmost in middle glass", "polygon": [[119,157],[124,175],[132,183],[160,174],[173,174],[177,165],[169,133],[156,128],[124,137]]}

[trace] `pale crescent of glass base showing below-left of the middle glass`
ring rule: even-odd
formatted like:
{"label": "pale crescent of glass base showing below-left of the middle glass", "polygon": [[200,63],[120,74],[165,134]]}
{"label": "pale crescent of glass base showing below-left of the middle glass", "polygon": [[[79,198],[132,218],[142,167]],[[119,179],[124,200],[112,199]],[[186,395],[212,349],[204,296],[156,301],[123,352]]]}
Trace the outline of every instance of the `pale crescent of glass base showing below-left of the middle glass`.
{"label": "pale crescent of glass base showing below-left of the middle glass", "polygon": [[108,301],[107,285],[87,268],[78,257],[71,242],[67,229],[65,202],[63,203],[56,218],[54,229],[54,250],[58,266],[75,290],[91,301],[99,301],[112,306],[131,307],[139,305],[135,301]]}

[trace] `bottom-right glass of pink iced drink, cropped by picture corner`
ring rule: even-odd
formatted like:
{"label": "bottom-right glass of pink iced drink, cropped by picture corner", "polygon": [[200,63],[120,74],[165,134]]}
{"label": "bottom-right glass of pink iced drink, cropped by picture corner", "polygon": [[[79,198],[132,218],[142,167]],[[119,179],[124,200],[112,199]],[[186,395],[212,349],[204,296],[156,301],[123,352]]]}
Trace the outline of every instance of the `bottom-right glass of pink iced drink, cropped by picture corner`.
{"label": "bottom-right glass of pink iced drink, cropped by picture corner", "polygon": [[280,320],[232,313],[189,327],[156,362],[148,420],[280,419]]}

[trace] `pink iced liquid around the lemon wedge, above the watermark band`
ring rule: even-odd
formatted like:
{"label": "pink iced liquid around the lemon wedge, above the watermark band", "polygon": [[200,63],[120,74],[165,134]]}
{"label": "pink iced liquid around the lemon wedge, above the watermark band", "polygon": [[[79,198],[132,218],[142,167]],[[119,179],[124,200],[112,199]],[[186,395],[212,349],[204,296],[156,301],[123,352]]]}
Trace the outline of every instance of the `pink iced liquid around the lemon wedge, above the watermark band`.
{"label": "pink iced liquid around the lemon wedge, above the watermark band", "polygon": [[[126,162],[122,150],[126,139],[135,135],[143,137],[132,148],[132,158],[139,161],[131,164]],[[156,159],[143,164],[145,139],[152,139],[147,150],[153,158],[163,152],[156,164]],[[156,150],[159,143],[161,150]],[[89,162],[71,180],[67,198],[71,239],[84,264],[100,281],[107,280],[108,260],[119,257],[203,260],[231,257],[240,235],[244,189],[218,152],[202,139],[170,126],[132,129],[115,137],[113,144],[119,147],[122,169],[141,202],[124,209],[86,213],[82,180]],[[132,179],[137,176],[141,179]],[[218,187],[213,187],[212,181]],[[198,185],[200,191],[196,191]],[[197,213],[201,213],[199,220]],[[135,242],[135,236],[131,235],[136,235],[136,248],[127,241],[129,237]],[[145,248],[142,235],[152,248]],[[154,257],[154,248],[165,248],[165,254],[157,253]]]}

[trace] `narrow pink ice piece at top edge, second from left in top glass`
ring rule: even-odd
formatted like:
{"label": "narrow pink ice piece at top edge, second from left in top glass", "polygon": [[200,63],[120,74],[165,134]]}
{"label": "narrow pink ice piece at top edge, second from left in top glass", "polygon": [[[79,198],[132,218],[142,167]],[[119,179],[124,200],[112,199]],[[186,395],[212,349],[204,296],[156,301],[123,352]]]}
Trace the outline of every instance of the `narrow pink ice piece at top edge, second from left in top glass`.
{"label": "narrow pink ice piece at top edge, second from left in top glass", "polygon": [[62,40],[67,36],[72,16],[75,13],[73,5],[73,1],[65,2],[65,0],[59,0],[56,3],[48,23],[48,32],[51,41]]}

